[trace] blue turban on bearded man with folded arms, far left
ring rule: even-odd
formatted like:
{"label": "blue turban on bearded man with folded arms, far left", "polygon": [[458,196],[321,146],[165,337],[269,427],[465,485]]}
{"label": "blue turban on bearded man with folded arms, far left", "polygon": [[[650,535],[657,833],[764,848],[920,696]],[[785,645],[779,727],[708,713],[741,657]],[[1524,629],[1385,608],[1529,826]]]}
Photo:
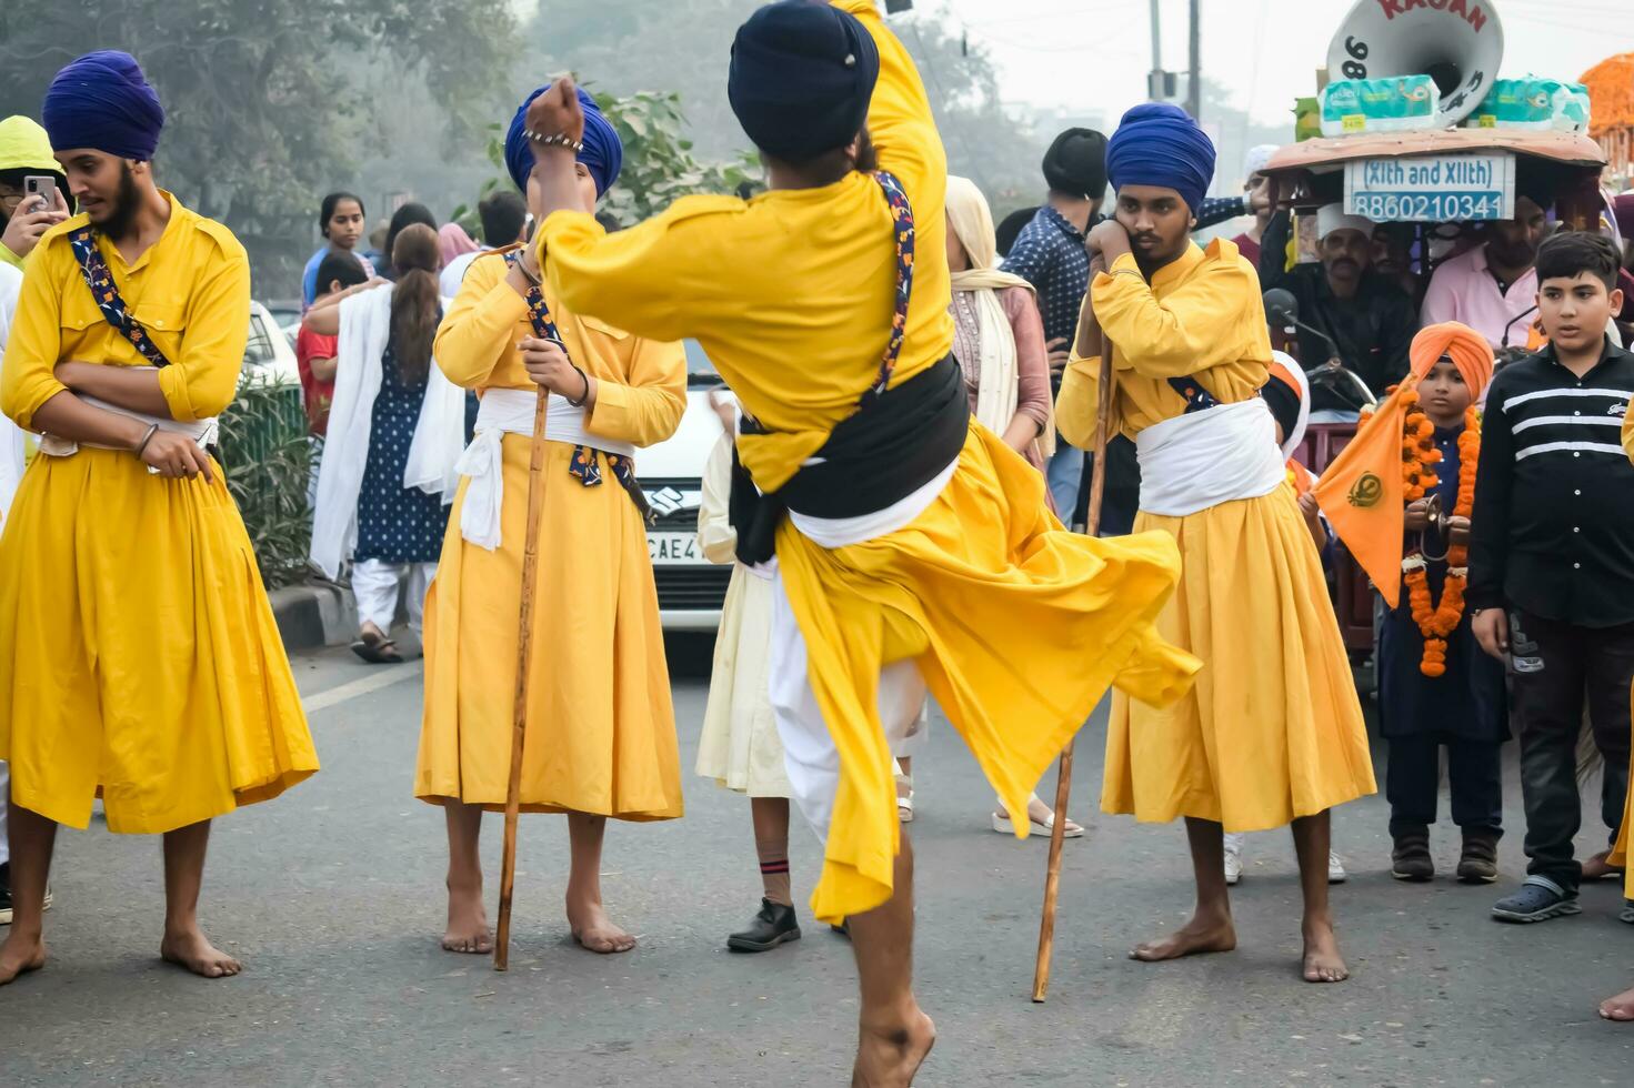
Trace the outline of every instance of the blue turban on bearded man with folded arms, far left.
{"label": "blue turban on bearded man with folded arms, far left", "polygon": [[46,134],[57,150],[90,147],[152,162],[165,108],[127,52],[88,52],[57,72],[46,90]]}

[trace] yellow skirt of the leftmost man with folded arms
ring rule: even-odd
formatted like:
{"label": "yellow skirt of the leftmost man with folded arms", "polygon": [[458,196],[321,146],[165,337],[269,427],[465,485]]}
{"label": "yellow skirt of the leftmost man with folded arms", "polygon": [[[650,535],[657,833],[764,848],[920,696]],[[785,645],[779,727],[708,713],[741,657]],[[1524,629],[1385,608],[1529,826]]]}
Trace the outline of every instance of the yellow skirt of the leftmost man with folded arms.
{"label": "yellow skirt of the leftmost man with folded arms", "polygon": [[34,457],[0,536],[0,758],[11,800],[172,832],[317,771],[250,537],[216,482],[127,453]]}

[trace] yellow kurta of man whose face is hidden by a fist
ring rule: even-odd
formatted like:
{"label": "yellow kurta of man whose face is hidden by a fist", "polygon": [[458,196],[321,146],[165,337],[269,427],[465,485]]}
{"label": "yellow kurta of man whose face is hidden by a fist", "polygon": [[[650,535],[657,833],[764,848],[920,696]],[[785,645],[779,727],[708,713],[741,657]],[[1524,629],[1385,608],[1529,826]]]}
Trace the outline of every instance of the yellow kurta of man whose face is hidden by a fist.
{"label": "yellow kurta of man whose face is hidden by a fist", "polygon": [[[686,408],[681,346],[572,314],[549,284],[546,305],[567,354],[598,382],[585,430],[636,446],[673,435]],[[438,328],[436,361],[467,389],[534,392],[516,351],[533,335],[526,302],[505,284],[505,258],[479,256]],[[425,717],[415,771],[415,796],[431,804],[454,797],[505,807],[531,444],[526,435],[503,438],[500,547],[490,552],[459,533],[469,482],[448,518],[425,601]],[[641,513],[605,466],[603,482],[585,487],[569,474],[572,446],[547,441],[546,449],[523,809],[678,817],[675,712]]]}

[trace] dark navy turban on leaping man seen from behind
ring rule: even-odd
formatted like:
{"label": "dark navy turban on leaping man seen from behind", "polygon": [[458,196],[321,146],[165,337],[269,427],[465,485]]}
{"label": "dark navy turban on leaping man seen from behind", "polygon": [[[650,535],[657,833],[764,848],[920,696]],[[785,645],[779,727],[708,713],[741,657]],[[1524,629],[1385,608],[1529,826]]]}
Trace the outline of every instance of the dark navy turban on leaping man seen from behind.
{"label": "dark navy turban on leaping man seen from behind", "polygon": [[877,78],[879,47],[855,15],[781,0],[737,28],[725,93],[755,147],[806,162],[856,139]]}

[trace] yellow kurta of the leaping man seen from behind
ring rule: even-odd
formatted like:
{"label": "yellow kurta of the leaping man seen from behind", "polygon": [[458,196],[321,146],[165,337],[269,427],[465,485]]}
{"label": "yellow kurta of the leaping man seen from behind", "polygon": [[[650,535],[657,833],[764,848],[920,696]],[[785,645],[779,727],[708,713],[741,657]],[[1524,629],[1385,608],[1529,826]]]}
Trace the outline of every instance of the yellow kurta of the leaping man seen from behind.
{"label": "yellow kurta of the leaping man seen from behind", "polygon": [[[842,0],[879,46],[868,127],[917,222],[915,279],[892,384],[953,346],[943,212],[948,162],[925,87],[873,0]],[[750,201],[686,198],[606,235],[585,214],[541,229],[562,299],[644,335],[696,337],[771,435],[740,438],[763,490],[779,488],[879,372],[892,322],[892,216],[851,173]],[[1152,631],[1173,590],[1173,541],[1093,541],[1044,506],[1044,479],[972,425],[958,470],[907,528],[827,551],[784,523],[778,562],[809,678],[840,753],[812,912],[835,921],[891,897],[899,846],[892,760],[876,707],[881,668],[917,658],[998,796],[1020,812],[1046,766],[1116,678],[1173,698],[1194,662]],[[1025,823],[1023,823],[1025,828]]]}

